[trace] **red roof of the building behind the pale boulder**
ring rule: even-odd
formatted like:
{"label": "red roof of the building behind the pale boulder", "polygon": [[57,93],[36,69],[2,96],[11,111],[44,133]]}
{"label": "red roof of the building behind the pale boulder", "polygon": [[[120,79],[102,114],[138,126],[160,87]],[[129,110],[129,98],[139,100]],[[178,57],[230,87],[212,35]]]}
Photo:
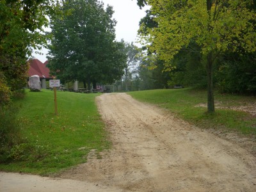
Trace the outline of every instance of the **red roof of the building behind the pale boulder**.
{"label": "red roof of the building behind the pale boulder", "polygon": [[49,68],[46,67],[46,64],[48,61],[45,61],[45,63],[42,63],[41,61],[37,59],[29,60],[29,70],[28,70],[28,76],[34,76],[38,75],[40,78],[45,79],[52,79],[52,76],[50,75]]}

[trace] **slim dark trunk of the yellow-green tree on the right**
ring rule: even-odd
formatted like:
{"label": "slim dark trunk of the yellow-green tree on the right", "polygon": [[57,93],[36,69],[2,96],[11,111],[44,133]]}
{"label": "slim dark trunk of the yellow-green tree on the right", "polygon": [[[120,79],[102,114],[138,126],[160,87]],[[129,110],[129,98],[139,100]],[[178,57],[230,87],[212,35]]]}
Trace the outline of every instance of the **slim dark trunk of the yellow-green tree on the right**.
{"label": "slim dark trunk of the yellow-green tree on the right", "polygon": [[214,95],[213,95],[213,60],[212,52],[207,54],[207,111],[214,113]]}

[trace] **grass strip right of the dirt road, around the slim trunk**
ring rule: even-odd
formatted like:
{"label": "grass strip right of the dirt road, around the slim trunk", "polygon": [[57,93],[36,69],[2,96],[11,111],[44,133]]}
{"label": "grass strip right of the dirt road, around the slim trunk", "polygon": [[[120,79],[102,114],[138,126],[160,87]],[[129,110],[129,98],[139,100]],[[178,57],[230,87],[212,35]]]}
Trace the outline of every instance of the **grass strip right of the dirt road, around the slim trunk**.
{"label": "grass strip right of the dirt road, around the slim trunk", "polygon": [[[239,95],[221,95],[215,93],[216,113],[205,113],[207,109],[207,93],[191,88],[179,90],[149,90],[129,93],[135,99],[157,104],[166,108],[179,118],[203,128],[236,131],[250,136],[256,136],[256,118],[250,113],[236,111],[230,108],[255,103],[255,97]],[[228,109],[229,108],[229,109]]]}

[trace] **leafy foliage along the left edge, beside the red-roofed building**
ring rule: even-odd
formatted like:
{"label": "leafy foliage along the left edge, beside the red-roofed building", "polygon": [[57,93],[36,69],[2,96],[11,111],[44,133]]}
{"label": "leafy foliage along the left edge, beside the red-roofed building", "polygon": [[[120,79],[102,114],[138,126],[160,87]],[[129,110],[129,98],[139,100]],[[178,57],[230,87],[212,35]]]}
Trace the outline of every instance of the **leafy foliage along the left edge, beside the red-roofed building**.
{"label": "leafy foliage along the left edge, beside the red-roofed building", "polygon": [[33,48],[46,44],[43,26],[57,4],[51,0],[0,1],[0,92],[9,90],[5,93],[10,96],[26,86],[26,60]]}

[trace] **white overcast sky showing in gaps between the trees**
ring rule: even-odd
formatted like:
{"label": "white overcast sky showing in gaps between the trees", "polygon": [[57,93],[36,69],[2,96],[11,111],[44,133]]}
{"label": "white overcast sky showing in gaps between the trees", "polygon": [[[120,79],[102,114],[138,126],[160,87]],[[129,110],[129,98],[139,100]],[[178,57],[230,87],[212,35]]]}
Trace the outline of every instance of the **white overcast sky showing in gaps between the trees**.
{"label": "white overcast sky showing in gaps between the trees", "polygon": [[[125,42],[136,42],[137,31],[139,29],[140,19],[143,18],[145,8],[140,10],[136,0],[101,0],[105,5],[113,6],[115,11],[113,18],[117,21],[116,24],[116,40],[122,38]],[[47,49],[41,51],[44,55],[33,54],[38,60],[43,63],[47,60]]]}

